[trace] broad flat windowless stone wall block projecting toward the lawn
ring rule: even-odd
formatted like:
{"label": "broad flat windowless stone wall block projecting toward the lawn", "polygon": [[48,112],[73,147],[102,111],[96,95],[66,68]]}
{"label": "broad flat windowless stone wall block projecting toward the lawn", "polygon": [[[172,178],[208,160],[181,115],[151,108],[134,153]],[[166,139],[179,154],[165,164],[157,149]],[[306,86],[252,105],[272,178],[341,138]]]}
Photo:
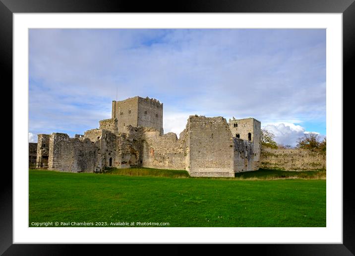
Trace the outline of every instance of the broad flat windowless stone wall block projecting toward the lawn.
{"label": "broad flat windowless stone wall block projecting toward the lawn", "polygon": [[234,142],[223,117],[190,116],[191,176],[234,177]]}

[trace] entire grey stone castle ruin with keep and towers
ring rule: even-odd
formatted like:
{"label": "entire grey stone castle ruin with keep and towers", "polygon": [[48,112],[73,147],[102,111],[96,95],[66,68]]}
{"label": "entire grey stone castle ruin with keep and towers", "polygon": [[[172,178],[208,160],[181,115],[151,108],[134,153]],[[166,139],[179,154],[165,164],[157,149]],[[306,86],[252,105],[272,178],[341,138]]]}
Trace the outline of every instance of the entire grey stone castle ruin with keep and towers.
{"label": "entire grey stone castle ruin with keep and towers", "polygon": [[163,130],[163,103],[139,96],[112,102],[111,119],[83,135],[38,134],[37,163],[49,170],[103,172],[107,167],[186,170],[192,177],[234,177],[260,167],[261,123],[189,116],[177,134]]}

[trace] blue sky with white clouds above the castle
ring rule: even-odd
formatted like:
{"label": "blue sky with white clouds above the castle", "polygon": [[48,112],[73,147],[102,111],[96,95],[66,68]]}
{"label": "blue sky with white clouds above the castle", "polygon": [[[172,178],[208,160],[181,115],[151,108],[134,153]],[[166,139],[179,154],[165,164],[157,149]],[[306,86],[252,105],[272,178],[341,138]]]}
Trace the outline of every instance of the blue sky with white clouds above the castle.
{"label": "blue sky with white clouds above the castle", "polygon": [[111,118],[111,102],[164,103],[164,131],[189,115],[254,117],[283,144],[326,135],[325,29],[30,29],[29,139]]}

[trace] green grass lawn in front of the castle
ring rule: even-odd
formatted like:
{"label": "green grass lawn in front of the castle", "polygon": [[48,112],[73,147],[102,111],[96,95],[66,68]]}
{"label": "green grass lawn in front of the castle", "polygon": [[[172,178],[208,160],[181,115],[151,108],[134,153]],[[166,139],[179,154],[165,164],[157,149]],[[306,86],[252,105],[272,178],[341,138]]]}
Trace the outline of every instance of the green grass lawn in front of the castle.
{"label": "green grass lawn in front of the castle", "polygon": [[29,223],[326,226],[326,180],[266,180],[272,172],[250,173],[260,179],[243,179],[252,177],[249,173],[241,178],[189,178],[185,171],[148,168],[111,169],[105,174],[30,170]]}

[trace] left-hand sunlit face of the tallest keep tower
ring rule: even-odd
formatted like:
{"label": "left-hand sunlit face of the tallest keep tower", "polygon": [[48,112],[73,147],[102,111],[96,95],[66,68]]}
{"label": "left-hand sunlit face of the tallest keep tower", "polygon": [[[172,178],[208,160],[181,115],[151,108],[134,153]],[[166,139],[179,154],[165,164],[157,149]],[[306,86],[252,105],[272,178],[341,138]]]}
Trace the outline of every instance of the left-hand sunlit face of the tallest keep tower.
{"label": "left-hand sunlit face of the tallest keep tower", "polygon": [[118,120],[118,131],[127,132],[126,127],[138,126],[138,96],[112,102],[112,119]]}

